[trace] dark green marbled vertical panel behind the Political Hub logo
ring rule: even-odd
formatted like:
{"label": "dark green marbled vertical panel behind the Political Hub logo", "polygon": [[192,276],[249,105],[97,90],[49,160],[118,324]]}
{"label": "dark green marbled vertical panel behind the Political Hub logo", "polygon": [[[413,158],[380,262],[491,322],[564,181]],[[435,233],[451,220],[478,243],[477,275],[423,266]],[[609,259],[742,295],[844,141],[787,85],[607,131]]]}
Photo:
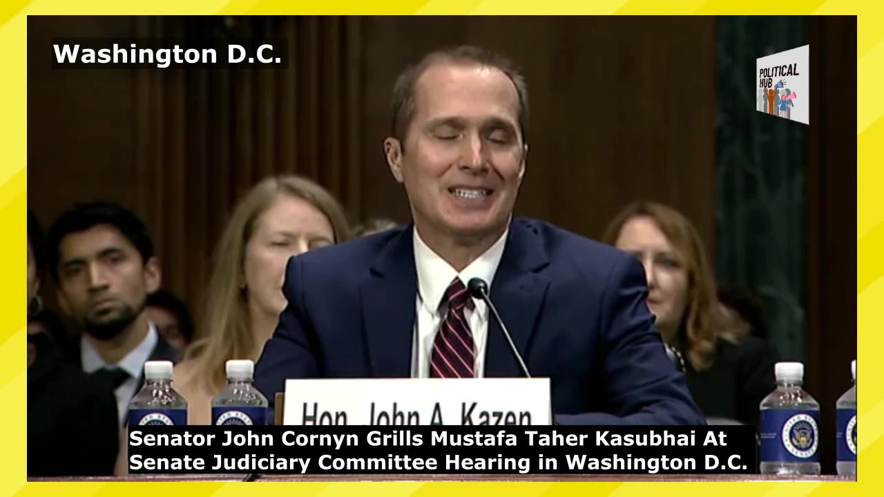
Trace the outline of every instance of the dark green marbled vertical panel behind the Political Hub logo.
{"label": "dark green marbled vertical panel behind the Political Hub logo", "polygon": [[781,356],[804,361],[808,126],[756,111],[755,64],[807,44],[808,22],[720,17],[717,27],[716,271],[757,295]]}

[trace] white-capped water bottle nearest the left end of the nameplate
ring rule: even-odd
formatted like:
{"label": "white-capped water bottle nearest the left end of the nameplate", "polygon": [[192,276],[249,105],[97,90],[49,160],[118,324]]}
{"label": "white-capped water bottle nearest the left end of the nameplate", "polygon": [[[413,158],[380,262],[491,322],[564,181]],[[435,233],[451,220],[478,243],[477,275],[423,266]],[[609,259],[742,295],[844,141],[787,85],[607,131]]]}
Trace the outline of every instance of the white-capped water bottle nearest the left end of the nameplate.
{"label": "white-capped water bottle nearest the left end of the nameplate", "polygon": [[225,364],[227,386],[212,399],[212,424],[267,424],[267,397],[252,384],[255,363]]}

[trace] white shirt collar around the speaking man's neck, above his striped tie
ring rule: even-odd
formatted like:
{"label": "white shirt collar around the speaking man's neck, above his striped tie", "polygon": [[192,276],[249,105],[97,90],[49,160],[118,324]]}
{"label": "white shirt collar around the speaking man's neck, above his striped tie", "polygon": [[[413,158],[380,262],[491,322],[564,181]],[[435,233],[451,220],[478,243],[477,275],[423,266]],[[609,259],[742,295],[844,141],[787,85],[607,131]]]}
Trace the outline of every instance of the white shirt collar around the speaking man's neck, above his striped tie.
{"label": "white shirt collar around the speaking man's neck, above his striped tie", "polygon": [[[417,291],[424,309],[434,314],[438,312],[442,296],[455,277],[459,277],[464,285],[467,285],[469,280],[473,278],[484,279],[488,283],[489,291],[491,291],[492,279],[494,279],[494,273],[497,272],[500,259],[503,256],[503,249],[507,245],[508,233],[509,228],[507,227],[507,231],[501,234],[500,238],[484,254],[478,256],[463,271],[457,272],[451,264],[448,264],[445,259],[427,246],[415,229]],[[480,310],[484,309],[483,303],[476,302]]]}

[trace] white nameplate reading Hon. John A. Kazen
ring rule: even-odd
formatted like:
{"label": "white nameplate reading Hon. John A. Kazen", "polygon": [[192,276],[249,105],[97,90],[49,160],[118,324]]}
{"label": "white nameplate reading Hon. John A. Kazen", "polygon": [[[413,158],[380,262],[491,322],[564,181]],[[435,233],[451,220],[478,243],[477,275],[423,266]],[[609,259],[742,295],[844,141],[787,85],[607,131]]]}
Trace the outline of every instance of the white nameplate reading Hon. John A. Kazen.
{"label": "white nameplate reading Hon. John A. Kazen", "polygon": [[552,424],[549,378],[289,379],[283,424]]}

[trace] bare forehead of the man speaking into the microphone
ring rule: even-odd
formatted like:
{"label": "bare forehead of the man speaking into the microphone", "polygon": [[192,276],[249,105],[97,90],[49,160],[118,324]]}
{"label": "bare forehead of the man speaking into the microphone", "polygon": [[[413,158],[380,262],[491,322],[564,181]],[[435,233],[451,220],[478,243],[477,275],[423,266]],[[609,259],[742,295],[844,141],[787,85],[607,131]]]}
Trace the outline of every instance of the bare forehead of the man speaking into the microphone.
{"label": "bare forehead of the man speaking into the microphone", "polygon": [[[477,108],[476,103],[487,103]],[[461,109],[455,109],[458,105]],[[499,69],[471,62],[441,60],[428,66],[415,82],[415,114],[448,111],[497,111],[518,119],[519,95]]]}

